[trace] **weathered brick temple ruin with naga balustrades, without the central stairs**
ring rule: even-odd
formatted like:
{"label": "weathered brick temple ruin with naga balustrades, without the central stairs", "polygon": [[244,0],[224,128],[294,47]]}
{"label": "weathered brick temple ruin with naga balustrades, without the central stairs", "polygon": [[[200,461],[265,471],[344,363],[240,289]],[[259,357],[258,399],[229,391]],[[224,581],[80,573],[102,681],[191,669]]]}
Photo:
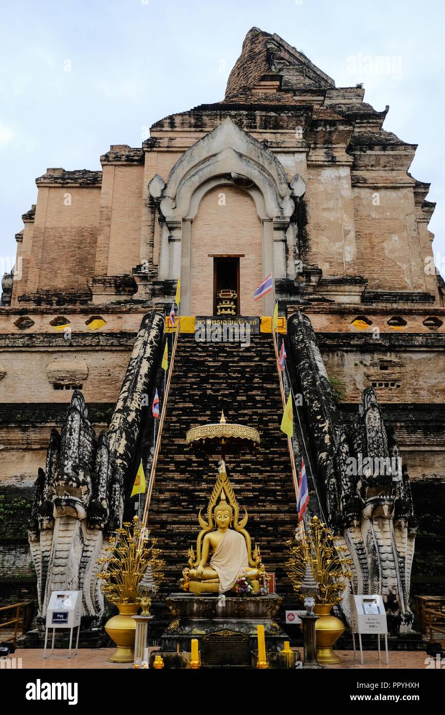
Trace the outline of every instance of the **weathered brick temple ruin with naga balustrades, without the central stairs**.
{"label": "weathered brick temple ruin with naga balustrades, without the central stairs", "polygon": [[[149,472],[149,405],[164,385],[159,314],[178,277],[184,316],[216,315],[222,289],[251,319],[278,300],[303,397],[297,466],[306,455],[311,511],[344,538],[356,588],[394,596],[401,613],[410,577],[416,593],[441,592],[444,284],[429,184],[409,174],[416,146],[382,128],[387,112],[254,28],[221,102],[161,119],[142,147],[111,146],[101,171],[36,179],[0,308],[2,600],[35,593],[34,503],[41,608],[45,588],[69,581],[84,587],[84,614],[99,613],[85,564],[131,513],[140,459]],[[269,274],[274,292],[254,301]],[[217,469],[187,452],[185,433],[224,408],[260,431],[261,453],[228,467],[276,590],[294,603],[284,561],[296,505],[270,332],[248,347],[181,334],[171,380],[149,518],[164,591],[177,588]],[[351,456],[400,455],[397,480],[346,473]]]}

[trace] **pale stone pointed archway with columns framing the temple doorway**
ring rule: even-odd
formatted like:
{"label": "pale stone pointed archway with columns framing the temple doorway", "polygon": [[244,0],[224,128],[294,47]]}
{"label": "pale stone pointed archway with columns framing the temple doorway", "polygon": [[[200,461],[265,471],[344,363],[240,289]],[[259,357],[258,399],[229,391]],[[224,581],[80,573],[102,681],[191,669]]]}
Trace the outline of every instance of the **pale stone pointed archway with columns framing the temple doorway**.
{"label": "pale stone pointed archway with columns framing the temple doorway", "polygon": [[[183,314],[191,305],[193,218],[202,197],[218,183],[251,189],[262,222],[263,277],[288,277],[286,231],[295,208],[292,189],[274,154],[228,117],[178,159],[166,184],[160,177],[149,184],[161,214],[158,277],[176,280],[181,275]],[[264,310],[270,312],[272,300],[272,294],[266,296]]]}

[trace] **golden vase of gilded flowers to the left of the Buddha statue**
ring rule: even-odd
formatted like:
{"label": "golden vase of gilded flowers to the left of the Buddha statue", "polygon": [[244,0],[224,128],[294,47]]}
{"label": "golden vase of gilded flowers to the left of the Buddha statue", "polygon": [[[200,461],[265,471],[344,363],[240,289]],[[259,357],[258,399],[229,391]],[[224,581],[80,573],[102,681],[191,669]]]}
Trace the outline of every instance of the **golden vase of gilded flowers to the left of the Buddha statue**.
{"label": "golden vase of gilded flowers to the left of the Buddha statue", "polygon": [[112,545],[105,550],[110,555],[98,560],[106,564],[98,575],[103,581],[102,593],[119,608],[119,615],[112,616],[105,624],[106,632],[117,646],[109,658],[110,663],[133,662],[136,623],[131,616],[139,611],[141,600],[144,606],[147,601],[139,592],[139,583],[147,569],[154,587],[164,580],[165,562],[159,558],[161,551],[156,543],[135,516],[133,523],[124,521],[122,527],[116,529]]}

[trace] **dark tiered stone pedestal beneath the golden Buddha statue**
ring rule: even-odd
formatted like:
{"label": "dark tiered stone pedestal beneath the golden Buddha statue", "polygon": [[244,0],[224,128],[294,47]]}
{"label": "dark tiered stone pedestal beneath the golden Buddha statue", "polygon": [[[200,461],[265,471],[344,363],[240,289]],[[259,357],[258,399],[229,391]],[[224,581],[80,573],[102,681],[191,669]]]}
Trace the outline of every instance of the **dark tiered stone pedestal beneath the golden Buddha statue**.
{"label": "dark tiered stone pedestal beneath the golden Buddha statue", "polygon": [[171,593],[166,603],[174,621],[161,636],[156,655],[162,656],[166,668],[189,668],[191,638],[197,638],[201,668],[256,668],[256,627],[262,624],[269,668],[289,668],[289,660],[280,652],[289,636],[274,621],[281,601],[276,593],[225,598],[211,593]]}

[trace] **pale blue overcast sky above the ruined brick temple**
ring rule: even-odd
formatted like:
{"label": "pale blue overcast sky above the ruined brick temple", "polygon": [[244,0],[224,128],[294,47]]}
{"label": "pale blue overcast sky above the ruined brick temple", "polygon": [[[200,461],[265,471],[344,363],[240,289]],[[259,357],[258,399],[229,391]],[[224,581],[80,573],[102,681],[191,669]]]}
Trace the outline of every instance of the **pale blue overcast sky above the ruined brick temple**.
{"label": "pale blue overcast sky above the ruined brick temple", "polygon": [[100,169],[110,144],[139,147],[157,119],[223,99],[257,26],[337,87],[363,82],[366,102],[389,104],[384,129],[419,144],[410,172],[431,182],[429,228],[445,275],[444,15],[441,0],[4,0],[0,256],[15,257],[46,167]]}

